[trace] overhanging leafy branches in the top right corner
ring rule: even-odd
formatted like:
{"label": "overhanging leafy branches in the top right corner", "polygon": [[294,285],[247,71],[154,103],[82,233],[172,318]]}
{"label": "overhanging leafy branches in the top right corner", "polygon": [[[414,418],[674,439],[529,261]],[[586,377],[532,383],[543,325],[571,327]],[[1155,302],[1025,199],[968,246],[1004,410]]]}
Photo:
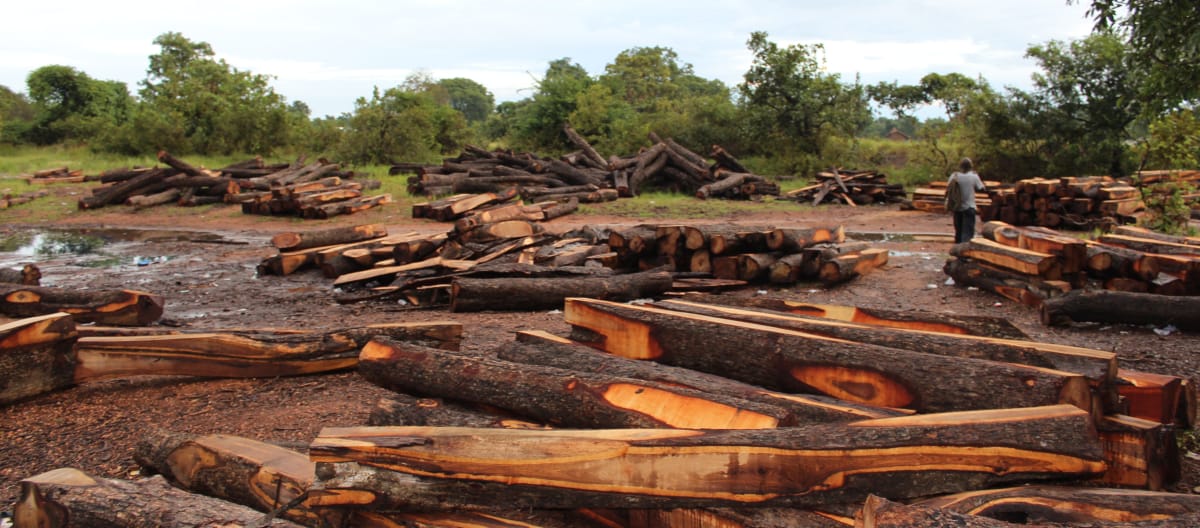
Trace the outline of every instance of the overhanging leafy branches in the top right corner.
{"label": "overhanging leafy branches in the top right corner", "polygon": [[[1074,2],[1078,0],[1069,0]],[[1142,79],[1147,110],[1200,102],[1200,10],[1195,0],[1091,0],[1097,32],[1117,30]]]}

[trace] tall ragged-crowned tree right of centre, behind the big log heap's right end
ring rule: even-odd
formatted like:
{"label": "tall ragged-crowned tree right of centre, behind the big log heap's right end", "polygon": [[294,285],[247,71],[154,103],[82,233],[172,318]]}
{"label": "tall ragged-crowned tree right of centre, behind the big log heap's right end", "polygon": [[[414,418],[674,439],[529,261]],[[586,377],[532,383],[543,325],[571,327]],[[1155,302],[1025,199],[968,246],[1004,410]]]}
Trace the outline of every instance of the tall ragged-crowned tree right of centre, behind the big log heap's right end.
{"label": "tall ragged-crowned tree right of centre, behind the big log heap's right end", "polygon": [[823,73],[821,44],[779,47],[756,31],[746,42],[754,62],[738,85],[764,151],[820,158],[834,136],[853,137],[870,121],[864,90]]}

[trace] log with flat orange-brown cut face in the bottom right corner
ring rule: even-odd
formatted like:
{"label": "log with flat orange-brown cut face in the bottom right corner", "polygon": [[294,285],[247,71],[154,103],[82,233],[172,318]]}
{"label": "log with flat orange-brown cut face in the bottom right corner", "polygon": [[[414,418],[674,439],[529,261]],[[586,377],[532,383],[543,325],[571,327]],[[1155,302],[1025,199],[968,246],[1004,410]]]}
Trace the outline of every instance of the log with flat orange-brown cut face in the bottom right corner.
{"label": "log with flat orange-brown cut face in the bottom right corner", "polygon": [[1134,522],[1200,514],[1195,494],[1045,485],[968,491],[914,504],[1022,523]]}

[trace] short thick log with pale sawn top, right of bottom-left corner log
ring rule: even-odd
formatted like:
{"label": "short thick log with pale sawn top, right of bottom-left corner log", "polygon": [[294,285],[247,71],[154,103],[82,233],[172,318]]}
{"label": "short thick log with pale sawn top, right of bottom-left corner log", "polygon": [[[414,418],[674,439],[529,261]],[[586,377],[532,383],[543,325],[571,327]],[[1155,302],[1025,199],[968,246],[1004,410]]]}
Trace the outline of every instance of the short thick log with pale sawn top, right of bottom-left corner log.
{"label": "short thick log with pale sawn top, right of bottom-left corner log", "polygon": [[316,464],[277,445],[228,434],[154,432],[134,448],[133,460],[193,493],[263,512],[292,505],[280,516],[305,526],[334,524],[341,516],[308,509],[298,499],[312,486]]}

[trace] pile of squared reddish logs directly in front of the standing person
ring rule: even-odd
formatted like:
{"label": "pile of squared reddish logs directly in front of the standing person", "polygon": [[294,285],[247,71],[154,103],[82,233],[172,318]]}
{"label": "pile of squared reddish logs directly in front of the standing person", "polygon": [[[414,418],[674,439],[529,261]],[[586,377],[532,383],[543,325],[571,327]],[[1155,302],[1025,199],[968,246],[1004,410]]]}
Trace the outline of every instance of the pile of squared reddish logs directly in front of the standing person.
{"label": "pile of squared reddish logs directly in front of the standing person", "polygon": [[[1040,308],[1074,290],[1150,294],[1151,299],[1200,295],[1200,239],[1132,226],[1088,240],[991,221],[983,226],[983,238],[955,245],[950,253],[955,258],[944,270],[956,284],[1031,307]],[[1163,324],[1180,316],[1166,317]],[[1129,322],[1145,319],[1130,317]]]}

